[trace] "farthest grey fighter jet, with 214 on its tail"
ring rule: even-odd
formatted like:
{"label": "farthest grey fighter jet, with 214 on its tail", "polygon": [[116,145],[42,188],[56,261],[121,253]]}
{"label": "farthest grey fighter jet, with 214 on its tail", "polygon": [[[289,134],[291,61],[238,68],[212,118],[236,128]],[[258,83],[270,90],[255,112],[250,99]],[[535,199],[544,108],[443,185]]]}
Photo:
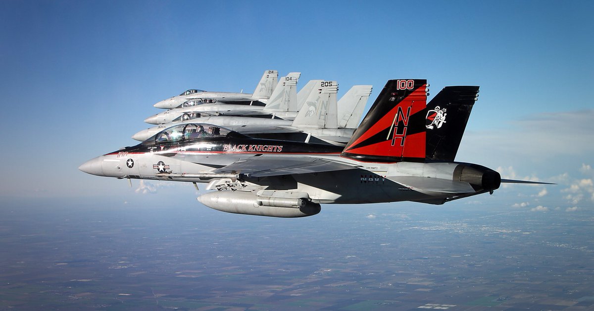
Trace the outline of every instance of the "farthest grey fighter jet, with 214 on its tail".
{"label": "farthest grey fighter jet, with 214 on its tail", "polygon": [[179,94],[178,96],[174,96],[172,98],[168,98],[167,100],[162,100],[157,102],[153,106],[156,108],[162,109],[172,109],[178,107],[178,105],[182,104],[185,101],[192,100],[192,99],[204,99],[204,100],[244,100],[244,101],[257,101],[270,98],[270,95],[274,91],[274,86],[276,86],[277,78],[279,76],[279,72],[277,70],[265,70],[264,75],[258,82],[258,85],[255,88],[253,94],[247,93],[232,93],[232,92],[207,92],[201,89],[188,89],[187,91]]}

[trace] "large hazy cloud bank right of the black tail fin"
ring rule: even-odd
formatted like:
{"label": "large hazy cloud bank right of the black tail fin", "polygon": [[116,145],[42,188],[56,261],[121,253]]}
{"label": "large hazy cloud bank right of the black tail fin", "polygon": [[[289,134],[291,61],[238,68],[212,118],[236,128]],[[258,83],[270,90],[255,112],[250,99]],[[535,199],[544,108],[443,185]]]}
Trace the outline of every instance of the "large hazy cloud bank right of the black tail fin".
{"label": "large hazy cloud bank right of the black tail fin", "polygon": [[[509,179],[521,179],[519,176],[533,172],[556,175],[575,163],[586,163],[582,170],[594,178],[594,170],[587,165],[594,153],[594,143],[590,143],[594,134],[584,126],[592,119],[594,109],[536,113],[504,121],[498,129],[467,130],[456,161],[501,166],[505,169],[501,176]],[[508,170],[510,166],[516,171]]]}

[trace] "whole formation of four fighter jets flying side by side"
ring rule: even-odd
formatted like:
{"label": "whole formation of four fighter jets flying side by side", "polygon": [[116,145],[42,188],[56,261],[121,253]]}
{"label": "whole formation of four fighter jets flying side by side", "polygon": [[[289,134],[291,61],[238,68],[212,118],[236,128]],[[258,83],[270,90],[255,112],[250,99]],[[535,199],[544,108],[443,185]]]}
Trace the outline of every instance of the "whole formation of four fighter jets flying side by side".
{"label": "whole formation of four fighter jets flying side by side", "polygon": [[93,175],[206,183],[198,201],[230,213],[317,214],[320,204],[443,204],[493,193],[498,172],[454,161],[478,86],[446,86],[427,103],[425,79],[390,80],[359,123],[371,85],[337,101],[336,81],[278,79],[266,70],[253,94],[189,89],[132,136],[141,143],[91,159]]}

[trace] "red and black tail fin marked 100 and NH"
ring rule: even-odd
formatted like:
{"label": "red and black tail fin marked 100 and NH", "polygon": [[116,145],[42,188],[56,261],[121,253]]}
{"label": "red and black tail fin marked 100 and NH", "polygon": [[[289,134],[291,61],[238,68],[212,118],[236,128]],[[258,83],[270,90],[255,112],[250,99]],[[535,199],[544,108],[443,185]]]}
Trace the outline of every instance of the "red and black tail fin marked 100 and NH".
{"label": "red and black tail fin marked 100 and NH", "polygon": [[390,80],[342,156],[365,162],[425,161],[426,79]]}

